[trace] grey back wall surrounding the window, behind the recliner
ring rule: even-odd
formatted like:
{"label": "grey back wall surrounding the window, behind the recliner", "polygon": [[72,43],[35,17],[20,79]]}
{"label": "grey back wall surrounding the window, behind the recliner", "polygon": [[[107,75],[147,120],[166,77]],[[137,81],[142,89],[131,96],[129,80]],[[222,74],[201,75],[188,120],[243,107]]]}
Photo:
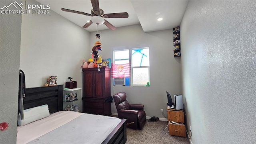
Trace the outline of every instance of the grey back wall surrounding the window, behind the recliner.
{"label": "grey back wall surrounding the window, behind the recliner", "polygon": [[[116,30],[98,31],[101,35],[102,58],[111,58],[113,61],[113,50],[143,48],[150,49],[150,87],[114,86],[111,94],[124,91],[130,104],[144,104],[147,116],[158,116],[164,118],[160,108],[166,113],[167,96],[166,91],[174,94],[181,93],[180,83],[180,58],[173,56],[173,34],[172,30],[156,32],[143,32],[140,24],[116,28]],[[90,33],[90,46],[94,46],[96,32]],[[91,52],[91,51],[90,51]],[[87,56],[87,59],[90,55]],[[113,86],[113,78],[111,78]],[[114,101],[111,110],[117,113]]]}

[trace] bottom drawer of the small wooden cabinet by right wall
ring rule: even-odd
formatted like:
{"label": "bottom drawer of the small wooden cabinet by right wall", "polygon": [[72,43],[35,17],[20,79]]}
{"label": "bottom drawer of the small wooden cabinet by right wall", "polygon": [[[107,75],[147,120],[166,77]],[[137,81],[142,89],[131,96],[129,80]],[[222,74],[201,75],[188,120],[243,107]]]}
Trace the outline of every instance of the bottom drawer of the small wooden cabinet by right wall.
{"label": "bottom drawer of the small wooden cabinet by right wall", "polygon": [[183,136],[186,137],[186,126],[184,124],[168,124],[169,134],[172,136]]}

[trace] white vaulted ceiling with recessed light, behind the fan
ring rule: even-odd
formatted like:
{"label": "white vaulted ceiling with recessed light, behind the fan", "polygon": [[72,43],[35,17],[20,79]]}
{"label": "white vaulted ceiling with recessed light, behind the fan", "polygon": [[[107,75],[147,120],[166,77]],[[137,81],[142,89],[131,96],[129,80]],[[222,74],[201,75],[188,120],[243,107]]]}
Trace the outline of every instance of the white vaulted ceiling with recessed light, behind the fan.
{"label": "white vaulted ceiling with recessed light, behind the fan", "polygon": [[[91,16],[64,12],[61,8],[76,10],[91,14],[92,4],[90,0],[36,0],[41,4],[50,4],[50,10],[74,22],[78,26],[84,26]],[[105,14],[128,12],[128,18],[106,18],[116,28],[141,24],[144,32],[167,30],[179,26],[184,15],[188,0],[99,0],[100,9]],[[158,18],[163,18],[158,21]],[[104,24],[92,24],[85,28],[89,32],[108,29]]]}

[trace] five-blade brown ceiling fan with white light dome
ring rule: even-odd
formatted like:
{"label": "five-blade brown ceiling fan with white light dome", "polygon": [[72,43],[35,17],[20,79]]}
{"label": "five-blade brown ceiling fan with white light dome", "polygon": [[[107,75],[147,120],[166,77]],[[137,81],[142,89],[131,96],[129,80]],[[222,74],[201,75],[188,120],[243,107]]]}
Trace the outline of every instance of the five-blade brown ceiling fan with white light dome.
{"label": "five-blade brown ceiling fan with white light dome", "polygon": [[91,0],[91,3],[92,3],[91,14],[88,14],[85,12],[79,12],[76,10],[69,10],[66,8],[62,8],[61,10],[65,11],[65,12],[73,12],[76,14],[92,16],[91,20],[89,22],[87,22],[84,26],[82,26],[83,28],[88,28],[92,23],[95,23],[97,25],[105,24],[111,30],[115,30],[116,27],[113,26],[112,24],[110,24],[110,22],[108,22],[107,20],[105,20],[105,18],[128,18],[127,12],[104,14],[104,11],[102,9],[100,9],[99,0]]}

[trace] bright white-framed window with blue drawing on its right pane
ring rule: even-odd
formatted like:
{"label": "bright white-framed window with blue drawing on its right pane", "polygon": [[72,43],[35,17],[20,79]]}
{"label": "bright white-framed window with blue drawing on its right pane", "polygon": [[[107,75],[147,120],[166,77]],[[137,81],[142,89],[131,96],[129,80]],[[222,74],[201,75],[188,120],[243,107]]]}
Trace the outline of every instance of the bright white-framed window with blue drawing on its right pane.
{"label": "bright white-framed window with blue drawing on its right pane", "polygon": [[126,86],[146,86],[150,81],[149,75],[149,48],[134,48],[130,50],[113,51],[114,64],[131,63],[130,77],[125,78]]}

